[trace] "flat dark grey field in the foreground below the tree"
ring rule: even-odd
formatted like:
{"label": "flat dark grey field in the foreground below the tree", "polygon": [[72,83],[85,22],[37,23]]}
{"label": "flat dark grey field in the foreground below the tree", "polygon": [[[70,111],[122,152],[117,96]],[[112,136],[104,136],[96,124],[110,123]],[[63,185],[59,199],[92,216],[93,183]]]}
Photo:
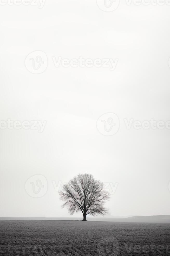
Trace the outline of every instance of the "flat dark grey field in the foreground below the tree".
{"label": "flat dark grey field in the foreground below the tree", "polygon": [[170,256],[166,223],[3,220],[0,239],[5,256]]}

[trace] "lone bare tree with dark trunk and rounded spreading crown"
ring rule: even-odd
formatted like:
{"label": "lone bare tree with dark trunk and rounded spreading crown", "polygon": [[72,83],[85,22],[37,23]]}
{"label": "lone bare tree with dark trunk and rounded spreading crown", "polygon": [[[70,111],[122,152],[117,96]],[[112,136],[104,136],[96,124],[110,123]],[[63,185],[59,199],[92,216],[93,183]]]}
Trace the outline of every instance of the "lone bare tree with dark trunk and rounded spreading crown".
{"label": "lone bare tree with dark trunk and rounded spreading crown", "polygon": [[63,185],[63,191],[60,190],[59,195],[65,201],[62,208],[67,206],[71,215],[81,211],[85,221],[87,214],[96,216],[108,212],[103,204],[110,198],[110,194],[103,189],[103,183],[94,179],[91,174],[78,174]]}

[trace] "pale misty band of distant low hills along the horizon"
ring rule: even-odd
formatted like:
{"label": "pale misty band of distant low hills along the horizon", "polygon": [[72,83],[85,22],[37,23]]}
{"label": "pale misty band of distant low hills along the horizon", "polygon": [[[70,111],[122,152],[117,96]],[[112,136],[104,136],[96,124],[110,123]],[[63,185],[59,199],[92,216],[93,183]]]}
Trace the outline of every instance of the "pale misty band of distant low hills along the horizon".
{"label": "pale misty band of distant low hills along the horizon", "polygon": [[[82,220],[82,218],[45,218],[45,217],[9,217],[0,218],[0,220]],[[132,216],[120,218],[98,218],[87,217],[89,221],[109,221],[109,222],[149,222],[149,223],[170,223],[170,215],[154,215],[154,216]]]}

